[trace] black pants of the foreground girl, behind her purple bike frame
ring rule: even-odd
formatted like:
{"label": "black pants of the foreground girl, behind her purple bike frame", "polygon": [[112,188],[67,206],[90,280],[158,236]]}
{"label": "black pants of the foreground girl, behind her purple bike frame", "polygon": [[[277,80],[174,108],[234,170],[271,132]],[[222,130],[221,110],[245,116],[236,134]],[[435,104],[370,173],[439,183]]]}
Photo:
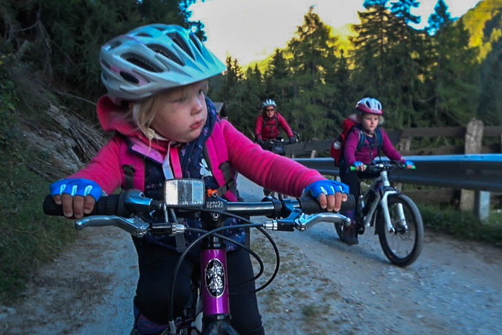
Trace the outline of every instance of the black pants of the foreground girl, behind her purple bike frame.
{"label": "black pants of the foreground girl, behind her purple bike frame", "polygon": [[[147,244],[143,239],[133,237],[133,241],[138,252],[140,266],[140,279],[134,303],[140,309],[141,314],[151,321],[166,324],[173,272],[180,254],[162,246]],[[181,315],[190,301],[190,278],[194,269],[198,268],[199,259],[188,259],[188,257],[179,268],[174,299],[175,316]],[[229,285],[242,283],[253,277],[250,256],[241,248],[227,253],[227,268]],[[238,292],[252,292],[254,288],[254,282],[250,282],[230,290],[231,324],[239,334],[265,334],[256,294],[232,295]]]}

